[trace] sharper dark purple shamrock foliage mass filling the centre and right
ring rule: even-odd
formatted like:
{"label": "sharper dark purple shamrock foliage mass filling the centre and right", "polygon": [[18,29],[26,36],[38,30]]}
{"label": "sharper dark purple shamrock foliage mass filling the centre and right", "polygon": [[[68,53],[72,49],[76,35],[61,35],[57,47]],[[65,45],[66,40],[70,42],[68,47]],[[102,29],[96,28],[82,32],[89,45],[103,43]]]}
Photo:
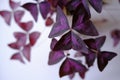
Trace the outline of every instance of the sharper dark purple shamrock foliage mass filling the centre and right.
{"label": "sharper dark purple shamrock foliage mass filling the centre and right", "polygon": [[[79,73],[80,77],[84,78],[85,73],[88,71],[88,68],[94,64],[95,59],[97,59],[98,69],[103,71],[108,62],[117,55],[114,52],[101,51],[100,48],[104,44],[106,36],[85,40],[80,37],[80,34],[88,36],[99,35],[90,20],[91,14],[88,2],[97,12],[101,12],[102,0],[70,0],[65,5],[66,11],[73,16],[72,26],[69,26],[62,7],[57,6],[56,22],[49,34],[49,38],[53,39],[51,41],[51,52],[49,54],[48,64],[54,65],[65,58],[59,69],[60,77],[69,75],[72,79],[75,73]],[[61,36],[61,38],[57,41],[55,37],[58,36]],[[65,53],[66,50],[69,51],[71,49],[85,57],[88,67],[82,64],[82,61],[71,58],[68,52]]]}

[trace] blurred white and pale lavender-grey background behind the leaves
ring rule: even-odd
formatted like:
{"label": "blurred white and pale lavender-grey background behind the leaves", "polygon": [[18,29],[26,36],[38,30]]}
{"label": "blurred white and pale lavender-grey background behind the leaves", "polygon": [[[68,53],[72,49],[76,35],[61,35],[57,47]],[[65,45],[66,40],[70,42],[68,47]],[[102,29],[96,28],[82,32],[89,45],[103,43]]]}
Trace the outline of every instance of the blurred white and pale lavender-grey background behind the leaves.
{"label": "blurred white and pale lavender-grey background behind the leaves", "polygon": [[[16,0],[24,4],[30,0]],[[105,0],[102,13],[98,14],[91,8],[92,20],[96,25],[100,35],[107,35],[105,44],[102,50],[113,51],[118,55],[109,62],[103,72],[97,68],[96,62],[93,67],[87,72],[84,80],[119,80],[120,79],[120,43],[113,47],[113,40],[110,32],[114,29],[120,29],[120,3],[118,0]],[[9,10],[8,0],[0,1],[0,11]],[[33,20],[29,12],[25,12],[22,21]],[[34,20],[33,20],[34,21]],[[31,62],[26,61],[25,64],[16,60],[10,60],[12,54],[16,51],[8,47],[8,44],[15,41],[13,33],[21,30],[15,23],[11,21],[11,26],[8,26],[0,16],[0,80],[69,80],[68,76],[59,78],[59,67],[62,61],[54,66],[49,66],[48,55],[50,39],[48,34],[51,27],[45,27],[45,21],[39,15],[38,22],[34,24],[33,31],[40,31],[41,36],[36,45],[32,48]],[[73,80],[82,80],[76,74]]]}

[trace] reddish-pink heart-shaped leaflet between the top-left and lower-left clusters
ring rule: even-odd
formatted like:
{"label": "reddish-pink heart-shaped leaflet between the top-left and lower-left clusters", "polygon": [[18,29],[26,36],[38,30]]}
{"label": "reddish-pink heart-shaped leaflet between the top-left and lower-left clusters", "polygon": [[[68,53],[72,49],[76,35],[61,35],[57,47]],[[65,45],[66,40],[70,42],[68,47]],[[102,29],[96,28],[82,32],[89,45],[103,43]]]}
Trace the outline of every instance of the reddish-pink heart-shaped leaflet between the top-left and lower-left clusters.
{"label": "reddish-pink heart-shaped leaflet between the top-left and lower-left clusters", "polygon": [[20,22],[19,26],[25,30],[26,32],[29,32],[32,27],[33,27],[33,22],[32,21],[28,21],[28,22]]}

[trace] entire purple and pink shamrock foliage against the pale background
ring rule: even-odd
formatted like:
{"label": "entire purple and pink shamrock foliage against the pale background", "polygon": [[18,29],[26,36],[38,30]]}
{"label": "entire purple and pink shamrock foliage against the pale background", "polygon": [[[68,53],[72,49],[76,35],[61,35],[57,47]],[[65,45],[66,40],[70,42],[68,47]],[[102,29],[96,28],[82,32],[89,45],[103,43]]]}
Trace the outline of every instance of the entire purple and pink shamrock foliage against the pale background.
{"label": "entire purple and pink shamrock foliage against the pale background", "polygon": [[[91,12],[89,6],[92,6],[96,12],[102,11],[102,0],[33,0],[20,4],[9,0],[12,11],[0,11],[1,17],[5,20],[6,24],[11,25],[11,19],[14,18],[16,24],[24,30],[24,32],[14,32],[16,42],[8,44],[12,49],[17,50],[11,56],[12,60],[19,60],[25,63],[23,57],[30,61],[31,49],[40,37],[40,32],[30,32],[34,27],[32,20],[22,22],[21,19],[28,11],[33,17],[34,21],[38,22],[38,16],[41,14],[46,22],[46,26],[53,25],[48,38],[51,38],[48,65],[55,65],[58,62],[63,62],[59,69],[59,76],[70,76],[72,79],[75,73],[78,73],[81,78],[85,77],[88,69],[93,66],[95,59],[97,59],[98,69],[103,71],[110,60],[117,54],[110,51],[101,51],[106,36],[99,35],[95,25],[90,20]],[[24,10],[19,10],[23,8]],[[53,14],[56,13],[56,21],[52,19]],[[67,16],[72,16],[72,25],[69,25]],[[120,38],[119,31],[113,31],[112,37],[115,39]],[[116,38],[116,34],[118,35]],[[83,39],[81,36],[86,35],[91,38]],[[120,39],[119,39],[120,40]],[[116,45],[118,41],[114,43]],[[76,57],[71,58],[70,50],[77,53],[77,57],[85,57],[86,64]]]}

